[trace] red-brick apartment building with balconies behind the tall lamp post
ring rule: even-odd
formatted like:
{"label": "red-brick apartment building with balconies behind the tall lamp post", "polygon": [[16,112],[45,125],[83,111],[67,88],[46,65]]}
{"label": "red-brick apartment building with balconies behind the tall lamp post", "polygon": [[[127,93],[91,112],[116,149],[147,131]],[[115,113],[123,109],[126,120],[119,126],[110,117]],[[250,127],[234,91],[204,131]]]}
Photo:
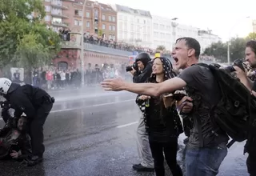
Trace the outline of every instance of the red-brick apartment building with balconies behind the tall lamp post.
{"label": "red-brick apartment building with balconies behind the tall lamp post", "polygon": [[[56,31],[68,28],[73,32],[81,32],[83,2],[45,0],[45,22]],[[117,40],[117,13],[110,5],[87,1],[83,25],[86,34]]]}

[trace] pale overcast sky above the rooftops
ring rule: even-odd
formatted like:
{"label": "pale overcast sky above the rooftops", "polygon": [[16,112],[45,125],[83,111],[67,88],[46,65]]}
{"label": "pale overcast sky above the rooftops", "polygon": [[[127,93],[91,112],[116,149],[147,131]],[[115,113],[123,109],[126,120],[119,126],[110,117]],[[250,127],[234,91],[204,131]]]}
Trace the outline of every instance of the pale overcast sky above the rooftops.
{"label": "pale overcast sky above the rooftops", "polygon": [[149,10],[153,15],[167,18],[176,17],[180,23],[212,30],[223,41],[226,41],[229,35],[246,36],[252,32],[252,19],[256,19],[256,0],[98,0],[98,2]]}

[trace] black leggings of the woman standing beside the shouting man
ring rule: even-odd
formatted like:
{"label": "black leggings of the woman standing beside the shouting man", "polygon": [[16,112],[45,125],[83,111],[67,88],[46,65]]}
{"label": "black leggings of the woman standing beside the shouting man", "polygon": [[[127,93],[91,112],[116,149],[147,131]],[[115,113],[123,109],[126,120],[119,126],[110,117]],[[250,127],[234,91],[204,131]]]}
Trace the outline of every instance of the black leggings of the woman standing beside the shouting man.
{"label": "black leggings of the woman standing beside the shouting man", "polygon": [[182,169],[177,164],[178,138],[171,138],[169,142],[156,142],[150,140],[150,149],[154,158],[154,171],[156,176],[165,175],[164,156],[174,176],[182,176]]}

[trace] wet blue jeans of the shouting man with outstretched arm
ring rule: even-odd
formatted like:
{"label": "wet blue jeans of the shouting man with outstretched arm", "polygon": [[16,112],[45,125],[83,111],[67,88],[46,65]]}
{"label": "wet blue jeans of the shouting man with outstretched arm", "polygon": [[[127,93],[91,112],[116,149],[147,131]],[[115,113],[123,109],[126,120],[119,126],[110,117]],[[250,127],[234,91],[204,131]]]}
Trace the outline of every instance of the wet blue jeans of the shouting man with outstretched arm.
{"label": "wet blue jeans of the shouting man with outstretched arm", "polygon": [[215,176],[226,157],[227,148],[219,146],[186,150],[186,176]]}

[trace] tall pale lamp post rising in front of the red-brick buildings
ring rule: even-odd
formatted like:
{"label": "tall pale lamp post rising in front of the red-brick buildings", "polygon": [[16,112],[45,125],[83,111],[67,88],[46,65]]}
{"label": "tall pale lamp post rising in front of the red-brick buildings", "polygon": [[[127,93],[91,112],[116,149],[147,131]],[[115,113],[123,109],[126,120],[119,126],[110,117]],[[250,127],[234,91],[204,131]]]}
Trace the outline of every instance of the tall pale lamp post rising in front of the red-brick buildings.
{"label": "tall pale lamp post rising in front of the red-brick buildings", "polygon": [[87,0],[85,0],[83,2],[83,6],[82,6],[82,26],[81,26],[81,54],[80,54],[80,59],[81,59],[81,81],[82,81],[82,86],[85,85],[85,62],[84,62],[84,50],[85,50],[85,44],[84,44],[84,41],[83,41],[83,34],[84,34],[84,24],[83,24],[83,21],[84,21],[84,16],[85,16],[85,11],[86,11],[86,2]]}

